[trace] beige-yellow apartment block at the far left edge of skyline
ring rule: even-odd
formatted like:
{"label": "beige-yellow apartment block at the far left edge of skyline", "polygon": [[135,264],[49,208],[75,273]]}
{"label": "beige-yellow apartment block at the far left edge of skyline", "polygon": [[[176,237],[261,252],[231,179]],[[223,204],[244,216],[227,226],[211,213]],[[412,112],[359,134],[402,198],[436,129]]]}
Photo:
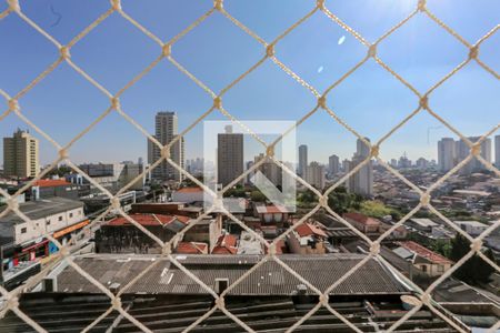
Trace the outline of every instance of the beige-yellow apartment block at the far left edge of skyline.
{"label": "beige-yellow apartment block at the far left edge of skyline", "polygon": [[29,132],[18,129],[12,138],[3,138],[3,175],[30,178],[40,171],[39,143]]}

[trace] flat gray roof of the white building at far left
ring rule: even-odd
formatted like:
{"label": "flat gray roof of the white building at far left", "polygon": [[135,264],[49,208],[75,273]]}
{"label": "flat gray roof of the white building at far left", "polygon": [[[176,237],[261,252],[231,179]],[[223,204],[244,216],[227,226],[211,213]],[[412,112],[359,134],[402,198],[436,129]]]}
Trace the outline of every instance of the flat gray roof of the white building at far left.
{"label": "flat gray roof of the white building at far left", "polygon": [[[83,202],[66,198],[53,196],[50,199],[28,201],[19,204],[19,210],[31,220],[43,219],[49,215],[59,214],[69,210],[82,208]],[[23,223],[24,221],[16,213],[9,212],[0,219],[0,223]]]}

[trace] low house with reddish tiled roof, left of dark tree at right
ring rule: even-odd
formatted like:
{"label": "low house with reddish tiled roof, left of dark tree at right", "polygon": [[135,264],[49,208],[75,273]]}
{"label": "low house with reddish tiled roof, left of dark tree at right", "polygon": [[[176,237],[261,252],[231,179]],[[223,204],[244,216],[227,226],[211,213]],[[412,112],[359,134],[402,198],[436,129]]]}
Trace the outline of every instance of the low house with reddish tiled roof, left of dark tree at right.
{"label": "low house with reddish tiled roof, left of dark tree at right", "polygon": [[442,275],[453,264],[449,259],[419,243],[407,241],[399,242],[399,245],[400,248],[394,249],[393,252],[431,278]]}

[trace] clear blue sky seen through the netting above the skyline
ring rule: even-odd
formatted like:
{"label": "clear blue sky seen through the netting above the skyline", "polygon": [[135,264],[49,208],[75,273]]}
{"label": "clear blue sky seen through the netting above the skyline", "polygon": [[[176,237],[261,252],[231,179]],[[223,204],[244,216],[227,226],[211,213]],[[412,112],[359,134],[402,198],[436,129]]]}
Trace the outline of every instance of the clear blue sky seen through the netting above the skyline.
{"label": "clear blue sky seen through the netting above the skyline", "polygon": [[[23,12],[61,43],[109,8],[106,0],[20,1]],[[271,41],[314,4],[309,0],[227,0],[224,8],[241,22]],[[122,8],[167,41],[206,12],[209,0],[123,0]],[[407,0],[330,0],[328,8],[374,41],[416,6]],[[6,4],[0,4],[3,10]],[[473,43],[499,23],[497,0],[429,0],[429,8],[466,40]],[[59,19],[60,14],[60,19]],[[340,40],[343,42],[339,43]],[[58,57],[58,50],[17,16],[0,20],[0,88],[16,94]],[[71,50],[72,60],[117,92],[158,57],[159,47],[119,14],[113,13]],[[277,57],[323,91],[360,61],[367,50],[321,12],[316,13],[276,47]],[[183,67],[218,92],[256,63],[264,50],[220,13],[208,18],[173,46]],[[379,46],[380,58],[419,91],[424,92],[450,72],[468,50],[429,18],[419,14]],[[481,47],[480,58],[500,71],[500,32]],[[436,90],[430,105],[467,135],[480,135],[500,120],[500,83],[476,62],[468,64]],[[163,61],[121,98],[123,110],[148,131],[154,113],[177,111],[179,130],[187,128],[211,104],[211,98]],[[59,143],[64,144],[109,105],[107,97],[62,63],[20,100],[22,112]],[[303,87],[270,60],[223,98],[223,104],[243,120],[298,120],[316,105]],[[381,67],[369,60],[330,92],[328,104],[354,130],[373,140],[404,119],[418,100]],[[0,109],[7,103],[0,100]],[[226,120],[217,111],[210,120]],[[13,114],[0,121],[2,137],[18,127]],[[500,133],[497,133],[500,134]],[[382,158],[436,158],[437,141],[452,135],[422,112],[394,133],[381,148]],[[330,154],[349,158],[356,138],[319,111],[297,131],[298,144],[310,147],[310,160],[327,162]],[[146,138],[118,114],[109,114],[78,141],[70,158],[83,161],[121,161],[146,158]],[[202,154],[202,124],[186,137],[187,157]],[[251,150],[251,154],[257,153]],[[56,159],[54,149],[41,139],[41,162]],[[250,157],[248,157],[250,158]]]}

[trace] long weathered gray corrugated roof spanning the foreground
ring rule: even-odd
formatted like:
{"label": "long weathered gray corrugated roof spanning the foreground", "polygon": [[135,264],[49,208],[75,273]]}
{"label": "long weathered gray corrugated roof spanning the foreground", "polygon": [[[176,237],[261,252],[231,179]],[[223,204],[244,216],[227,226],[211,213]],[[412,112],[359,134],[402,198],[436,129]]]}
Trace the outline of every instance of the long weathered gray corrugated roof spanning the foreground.
{"label": "long weathered gray corrugated roof spanning the foreground", "polygon": [[[328,255],[280,255],[292,270],[324,291],[338,281],[358,262],[363,254]],[[244,272],[257,264],[261,255],[176,255],[176,259],[198,279],[214,289],[216,279],[229,279],[234,282]],[[124,286],[149,265],[156,265],[140,281],[131,285],[129,293],[146,294],[208,294],[197,282],[189,278],[167,259],[158,256],[133,255],[88,255],[76,258],[86,272],[106,286],[118,283]],[[60,292],[99,292],[72,268],[67,268],[57,280]],[[230,295],[293,295],[300,280],[287,272],[274,261],[267,261],[247,279],[230,291]],[[336,287],[331,294],[402,294],[407,291],[386,270],[372,259],[354,274]],[[311,290],[307,290],[312,294]]]}

